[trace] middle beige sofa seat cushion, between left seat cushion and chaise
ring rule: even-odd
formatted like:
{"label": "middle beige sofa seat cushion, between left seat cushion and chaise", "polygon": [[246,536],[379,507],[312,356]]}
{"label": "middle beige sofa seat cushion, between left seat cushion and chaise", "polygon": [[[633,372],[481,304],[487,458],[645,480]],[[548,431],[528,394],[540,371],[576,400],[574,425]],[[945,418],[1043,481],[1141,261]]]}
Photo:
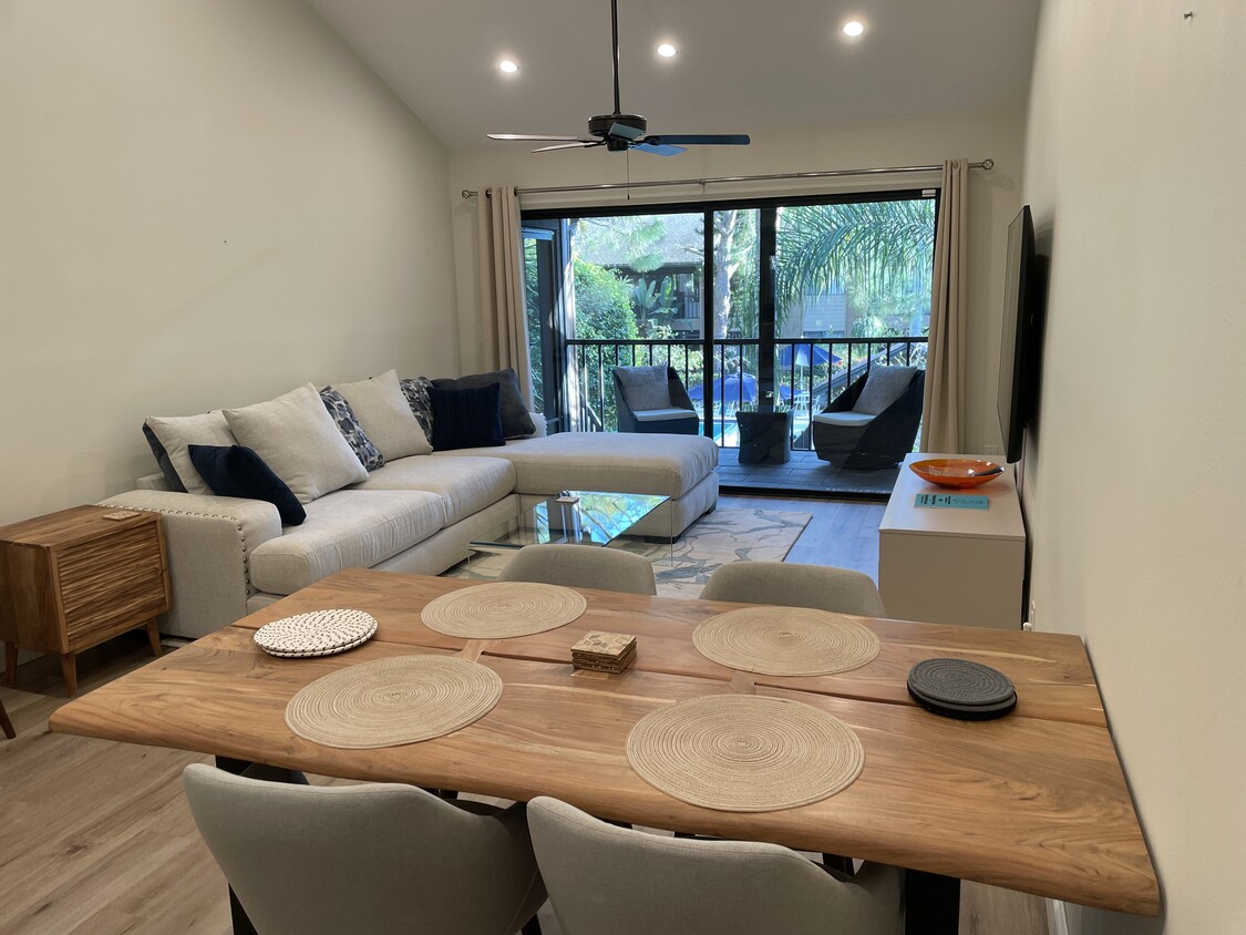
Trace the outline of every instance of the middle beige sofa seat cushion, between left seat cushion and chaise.
{"label": "middle beige sofa seat cushion, between left seat cushion and chaise", "polygon": [[[496,450],[496,449],[490,449]],[[501,458],[400,458],[353,490],[426,490],[444,500],[452,526],[496,504],[515,489],[515,466]]]}

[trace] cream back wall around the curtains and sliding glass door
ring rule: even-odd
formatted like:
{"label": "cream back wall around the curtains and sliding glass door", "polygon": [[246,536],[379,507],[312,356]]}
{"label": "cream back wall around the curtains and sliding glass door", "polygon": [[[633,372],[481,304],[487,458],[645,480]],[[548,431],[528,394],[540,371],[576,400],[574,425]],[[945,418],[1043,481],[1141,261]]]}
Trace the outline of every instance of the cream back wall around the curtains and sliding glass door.
{"label": "cream back wall around the curtains and sliding glass door", "polygon": [[[478,369],[478,288],[476,282],[476,203],[462,201],[462,188],[491,185],[545,187],[593,185],[658,178],[705,178],[714,176],[773,175],[876,166],[942,165],[946,158],[991,157],[996,168],[973,171],[969,182],[969,318],[971,360],[968,380],[967,451],[982,451],[999,444],[994,410],[998,367],[999,314],[1003,307],[1003,263],[1008,222],[1020,204],[1020,152],[1023,115],[1006,112],[944,113],[905,120],[850,123],[809,128],[782,135],[753,135],[749,147],[690,148],[677,157],[642,153],[624,156],[596,150],[531,153],[525,143],[486,143],[480,148],[455,150],[450,158],[451,198],[456,203],[455,267],[459,283],[462,369]],[[871,177],[868,180],[825,180],[812,187],[801,183],[750,183],[710,186],[710,197],[779,194],[800,191],[877,191],[920,188],[938,183],[938,173],[925,176]],[[635,189],[632,203],[692,201],[698,186]],[[523,197],[523,207],[618,204],[625,194],[557,194]]]}

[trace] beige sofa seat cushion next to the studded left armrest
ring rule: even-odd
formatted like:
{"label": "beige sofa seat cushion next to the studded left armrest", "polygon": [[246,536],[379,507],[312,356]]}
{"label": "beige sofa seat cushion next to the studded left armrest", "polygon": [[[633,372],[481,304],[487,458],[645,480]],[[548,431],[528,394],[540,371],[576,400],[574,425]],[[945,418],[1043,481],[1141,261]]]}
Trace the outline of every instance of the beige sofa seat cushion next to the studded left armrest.
{"label": "beige sofa seat cushion next to the studded left armrest", "polygon": [[343,568],[370,568],[424,541],[445,519],[441,496],[422,490],[339,490],[307,512],[302,526],[252,552],[250,580],[260,591],[289,595]]}

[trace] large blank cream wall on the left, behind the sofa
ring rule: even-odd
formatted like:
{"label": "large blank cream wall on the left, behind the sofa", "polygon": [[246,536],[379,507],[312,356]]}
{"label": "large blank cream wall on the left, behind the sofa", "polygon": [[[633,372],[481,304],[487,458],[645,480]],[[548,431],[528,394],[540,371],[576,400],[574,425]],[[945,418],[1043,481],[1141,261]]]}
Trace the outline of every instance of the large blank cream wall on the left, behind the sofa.
{"label": "large blank cream wall on the left, behind the sofa", "polygon": [[300,0],[2,0],[0,127],[0,522],[150,414],[452,369],[447,153]]}

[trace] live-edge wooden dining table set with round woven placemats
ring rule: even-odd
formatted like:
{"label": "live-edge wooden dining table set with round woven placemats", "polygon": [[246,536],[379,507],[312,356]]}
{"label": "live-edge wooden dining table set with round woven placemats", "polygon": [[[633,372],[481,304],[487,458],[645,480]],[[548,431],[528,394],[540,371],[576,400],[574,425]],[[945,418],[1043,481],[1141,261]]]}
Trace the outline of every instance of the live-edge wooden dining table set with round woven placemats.
{"label": "live-edge wooden dining table set with round woven placemats", "polygon": [[[736,672],[698,652],[695,627],[740,607],[718,601],[577,588],[584,613],[533,636],[477,641],[424,626],[429,601],[477,583],[339,572],[65,704],[51,729],[320,775],[515,800],[552,795],[604,819],[895,864],[908,869],[908,931],[956,933],[961,880],[1160,911],[1094,671],[1075,636],[858,617],[880,640],[872,662],[789,677]],[[373,615],[373,640],[303,659],[254,643],[264,623],[338,607]],[[635,635],[628,671],[572,668],[571,647],[594,630]],[[501,676],[501,701],[449,736],[378,749],[320,746],[287,726],[287,704],[314,679],[410,653],[476,659]],[[1015,686],[1015,711],[969,722],[918,707],[907,674],[932,657],[1001,671]],[[865,748],[860,777],[814,804],[740,813],[680,802],[632,769],[625,741],[642,717],[725,692],[795,699],[835,716]]]}

